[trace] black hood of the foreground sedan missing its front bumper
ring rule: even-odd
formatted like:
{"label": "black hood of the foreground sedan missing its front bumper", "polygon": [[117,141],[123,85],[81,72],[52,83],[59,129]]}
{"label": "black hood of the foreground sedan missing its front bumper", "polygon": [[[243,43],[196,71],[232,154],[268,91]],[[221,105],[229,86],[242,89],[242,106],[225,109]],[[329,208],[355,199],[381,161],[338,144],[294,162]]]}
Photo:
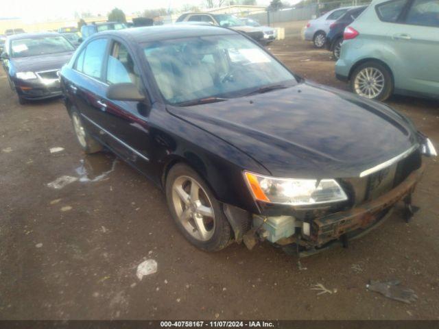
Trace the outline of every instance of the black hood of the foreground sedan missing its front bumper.
{"label": "black hood of the foreground sedan missing its front bumper", "polygon": [[412,123],[388,106],[318,84],[167,108],[276,177],[358,177],[418,145]]}

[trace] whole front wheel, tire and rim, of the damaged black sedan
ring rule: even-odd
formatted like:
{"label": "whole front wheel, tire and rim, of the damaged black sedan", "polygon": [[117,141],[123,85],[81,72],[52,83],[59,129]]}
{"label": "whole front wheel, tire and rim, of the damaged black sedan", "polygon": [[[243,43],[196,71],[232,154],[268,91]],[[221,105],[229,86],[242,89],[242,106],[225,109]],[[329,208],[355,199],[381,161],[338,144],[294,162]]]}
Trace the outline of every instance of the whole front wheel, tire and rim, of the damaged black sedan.
{"label": "whole front wheel, tire and rim, of the damaged black sedan", "polygon": [[[193,193],[193,188],[198,193]],[[206,252],[217,252],[230,243],[230,224],[221,205],[211,188],[191,167],[175,164],[167,175],[165,191],[172,218],[190,243]],[[201,215],[200,211],[212,216]]]}

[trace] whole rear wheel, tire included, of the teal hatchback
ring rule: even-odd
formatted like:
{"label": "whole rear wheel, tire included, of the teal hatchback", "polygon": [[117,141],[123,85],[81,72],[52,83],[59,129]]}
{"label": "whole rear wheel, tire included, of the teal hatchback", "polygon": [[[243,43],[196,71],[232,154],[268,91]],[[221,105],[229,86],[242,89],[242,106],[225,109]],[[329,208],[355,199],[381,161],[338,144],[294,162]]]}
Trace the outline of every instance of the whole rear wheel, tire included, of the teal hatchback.
{"label": "whole rear wheel, tire included, of the teal hatchback", "polygon": [[392,73],[379,62],[365,62],[353,71],[351,90],[361,97],[385,101],[393,93]]}

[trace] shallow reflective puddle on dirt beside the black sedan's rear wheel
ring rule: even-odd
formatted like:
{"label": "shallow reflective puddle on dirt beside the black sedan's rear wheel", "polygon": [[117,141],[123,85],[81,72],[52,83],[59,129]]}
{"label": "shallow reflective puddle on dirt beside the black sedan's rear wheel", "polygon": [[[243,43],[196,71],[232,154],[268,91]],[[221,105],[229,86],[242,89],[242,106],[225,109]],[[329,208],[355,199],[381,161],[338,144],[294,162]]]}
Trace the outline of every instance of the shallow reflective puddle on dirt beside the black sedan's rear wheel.
{"label": "shallow reflective puddle on dirt beside the black sedan's rear wheel", "polygon": [[117,158],[108,156],[88,156],[80,160],[81,164],[75,169],[82,183],[99,182],[115,170]]}

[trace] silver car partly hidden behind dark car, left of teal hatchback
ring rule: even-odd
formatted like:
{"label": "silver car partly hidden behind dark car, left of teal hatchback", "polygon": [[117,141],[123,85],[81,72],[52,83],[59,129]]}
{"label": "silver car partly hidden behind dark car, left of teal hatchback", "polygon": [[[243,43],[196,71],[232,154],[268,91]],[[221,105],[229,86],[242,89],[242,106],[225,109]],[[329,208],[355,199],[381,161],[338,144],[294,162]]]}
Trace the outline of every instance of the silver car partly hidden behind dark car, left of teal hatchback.
{"label": "silver car partly hidden behind dark car, left of teal hatchback", "polygon": [[322,48],[327,41],[327,34],[331,24],[337,21],[337,19],[340,19],[345,12],[352,8],[355,7],[337,8],[323,14],[317,19],[312,19],[302,30],[302,38],[307,41],[312,41],[317,48]]}

